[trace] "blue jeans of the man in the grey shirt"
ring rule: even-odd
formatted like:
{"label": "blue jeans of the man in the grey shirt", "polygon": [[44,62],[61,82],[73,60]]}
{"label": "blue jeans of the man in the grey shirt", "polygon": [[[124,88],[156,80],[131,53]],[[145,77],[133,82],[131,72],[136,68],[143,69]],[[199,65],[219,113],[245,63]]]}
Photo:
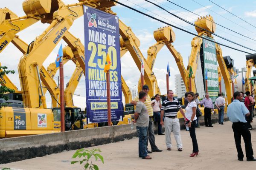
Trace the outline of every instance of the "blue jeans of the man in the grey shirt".
{"label": "blue jeans of the man in the grey shirt", "polygon": [[139,157],[145,158],[148,156],[147,152],[147,129],[148,127],[136,126],[137,133],[139,136]]}

